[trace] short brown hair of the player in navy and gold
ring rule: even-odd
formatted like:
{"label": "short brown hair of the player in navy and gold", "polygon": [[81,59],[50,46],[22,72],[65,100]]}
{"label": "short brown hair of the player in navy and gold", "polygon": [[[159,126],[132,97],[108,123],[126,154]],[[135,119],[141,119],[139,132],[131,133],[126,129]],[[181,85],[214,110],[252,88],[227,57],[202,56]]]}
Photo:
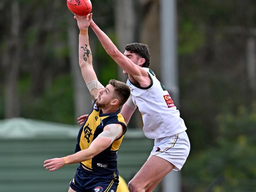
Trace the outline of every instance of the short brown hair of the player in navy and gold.
{"label": "short brown hair of the player in navy and gold", "polygon": [[110,79],[109,84],[114,87],[114,91],[115,91],[114,96],[118,97],[119,105],[122,106],[123,104],[125,104],[125,102],[130,97],[130,94],[131,94],[131,90],[129,86],[127,86],[127,84],[121,81],[114,80],[114,79]]}

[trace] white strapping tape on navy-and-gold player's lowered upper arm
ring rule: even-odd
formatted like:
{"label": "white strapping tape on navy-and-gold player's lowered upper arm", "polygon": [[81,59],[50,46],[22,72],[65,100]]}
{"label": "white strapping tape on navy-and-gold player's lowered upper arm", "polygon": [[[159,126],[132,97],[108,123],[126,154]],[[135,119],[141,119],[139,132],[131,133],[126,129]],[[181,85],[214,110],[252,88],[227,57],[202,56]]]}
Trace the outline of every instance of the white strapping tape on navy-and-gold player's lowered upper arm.
{"label": "white strapping tape on navy-and-gold player's lowered upper arm", "polygon": [[111,143],[116,139],[116,137],[123,132],[123,127],[120,124],[109,124],[106,127],[109,129],[103,130],[98,137],[111,138]]}

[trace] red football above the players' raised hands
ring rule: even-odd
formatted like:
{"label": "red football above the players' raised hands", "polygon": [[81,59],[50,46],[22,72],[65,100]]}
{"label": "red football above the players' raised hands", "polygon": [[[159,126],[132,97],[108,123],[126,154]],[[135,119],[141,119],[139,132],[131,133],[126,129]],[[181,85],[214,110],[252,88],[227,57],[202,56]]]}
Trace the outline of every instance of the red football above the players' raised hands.
{"label": "red football above the players' raised hands", "polygon": [[88,15],[92,11],[90,0],[67,0],[67,7],[72,13],[79,16]]}

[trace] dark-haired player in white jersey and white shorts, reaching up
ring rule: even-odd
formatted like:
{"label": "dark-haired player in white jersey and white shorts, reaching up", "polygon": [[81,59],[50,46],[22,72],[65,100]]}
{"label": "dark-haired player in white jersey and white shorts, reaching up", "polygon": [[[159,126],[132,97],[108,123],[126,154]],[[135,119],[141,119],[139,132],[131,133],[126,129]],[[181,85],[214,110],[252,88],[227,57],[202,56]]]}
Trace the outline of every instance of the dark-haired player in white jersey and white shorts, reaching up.
{"label": "dark-haired player in white jersey and white shorts, reaching up", "polygon": [[[128,74],[131,96],[121,110],[125,122],[129,122],[138,107],[145,135],[155,139],[148,160],[128,184],[131,192],[151,192],[167,173],[173,169],[180,170],[185,163],[190,150],[185,132],[187,128],[169,93],[151,69],[145,68],[150,63],[148,46],[132,43],[126,45],[122,54],[93,21],[90,27],[108,55],[123,69],[123,73]],[[79,117],[78,122],[83,118]]]}

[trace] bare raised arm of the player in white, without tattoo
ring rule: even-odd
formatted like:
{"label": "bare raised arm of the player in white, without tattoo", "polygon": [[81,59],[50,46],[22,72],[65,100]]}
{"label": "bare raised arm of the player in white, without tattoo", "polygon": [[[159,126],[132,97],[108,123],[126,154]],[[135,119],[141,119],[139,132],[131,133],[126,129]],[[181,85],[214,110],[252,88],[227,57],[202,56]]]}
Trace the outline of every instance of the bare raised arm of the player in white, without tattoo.
{"label": "bare raised arm of the player in white, without tattoo", "polygon": [[124,69],[129,75],[133,76],[135,80],[139,83],[143,82],[145,77],[148,77],[148,73],[142,69],[140,66],[133,63],[129,58],[124,56],[118,48],[114,45],[114,43],[109,39],[109,37],[95,24],[95,22],[91,22],[90,27],[97,35],[99,41],[102,46],[106,50],[107,54],[110,55],[114,61]]}

